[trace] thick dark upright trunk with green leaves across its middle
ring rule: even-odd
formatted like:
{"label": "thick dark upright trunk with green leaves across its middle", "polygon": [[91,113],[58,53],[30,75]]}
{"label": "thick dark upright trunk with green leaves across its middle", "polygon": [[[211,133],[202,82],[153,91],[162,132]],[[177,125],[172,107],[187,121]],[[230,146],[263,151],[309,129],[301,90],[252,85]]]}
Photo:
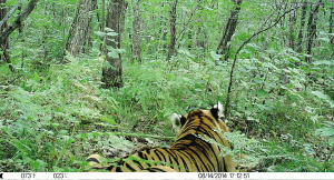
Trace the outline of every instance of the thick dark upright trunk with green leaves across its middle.
{"label": "thick dark upright trunk with green leaves across its middle", "polygon": [[108,7],[108,14],[106,18],[106,27],[114,30],[118,36],[106,36],[106,59],[109,66],[102,68],[102,88],[121,88],[122,87],[122,67],[121,67],[121,56],[112,56],[110,53],[115,52],[115,49],[120,49],[120,34],[121,34],[121,16],[125,13],[125,0],[111,0]]}

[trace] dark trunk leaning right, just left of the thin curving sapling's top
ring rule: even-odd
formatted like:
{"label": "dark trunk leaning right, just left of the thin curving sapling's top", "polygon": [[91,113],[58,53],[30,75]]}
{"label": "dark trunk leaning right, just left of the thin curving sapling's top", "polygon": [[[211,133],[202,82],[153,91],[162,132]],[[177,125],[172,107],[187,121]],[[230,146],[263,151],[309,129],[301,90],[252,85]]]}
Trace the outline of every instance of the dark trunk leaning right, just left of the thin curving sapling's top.
{"label": "dark trunk leaning right, just left of the thin curving sapling's top", "polygon": [[228,18],[227,24],[225,26],[223,38],[218,44],[217,54],[223,54],[225,57],[225,60],[228,60],[229,52],[227,43],[230,41],[232,36],[235,32],[237,22],[238,22],[238,14],[240,11],[240,4],[243,0],[233,0],[234,2],[234,9],[230,11],[230,16]]}

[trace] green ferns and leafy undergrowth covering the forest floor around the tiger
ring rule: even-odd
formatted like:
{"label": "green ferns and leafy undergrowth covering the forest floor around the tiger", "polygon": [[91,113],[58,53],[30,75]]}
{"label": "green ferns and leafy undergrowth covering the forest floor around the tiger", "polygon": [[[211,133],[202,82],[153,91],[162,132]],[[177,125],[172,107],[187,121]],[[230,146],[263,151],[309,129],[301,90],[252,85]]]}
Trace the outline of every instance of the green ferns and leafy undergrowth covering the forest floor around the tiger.
{"label": "green ferns and leafy undergrowth covering the forest floor around the tiger", "polygon": [[[102,57],[67,58],[67,64],[28,68],[12,84],[1,84],[0,171],[84,171],[89,154],[132,147],[119,134],[165,140],[175,137],[171,113],[207,109],[226,99],[229,62],[216,66],[212,58],[187,53],[169,63],[125,61],[125,86],[101,89]],[[262,171],[334,171],[323,169],[328,152],[322,150],[330,146],[315,133],[321,122],[333,119],[332,91],[315,89],[317,82],[308,78],[325,62],[282,68],[282,61],[243,58],[226,121],[259,143],[238,149],[261,160]],[[2,82],[16,78],[6,68]],[[333,69],[322,73],[328,72]],[[236,137],[230,139],[235,147],[245,136]]]}

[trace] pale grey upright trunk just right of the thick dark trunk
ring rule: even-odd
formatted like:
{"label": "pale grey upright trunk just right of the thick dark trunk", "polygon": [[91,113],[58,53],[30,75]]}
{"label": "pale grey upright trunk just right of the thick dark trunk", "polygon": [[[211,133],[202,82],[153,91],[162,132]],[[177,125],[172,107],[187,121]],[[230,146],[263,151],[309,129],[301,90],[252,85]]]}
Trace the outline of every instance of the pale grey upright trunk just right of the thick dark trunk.
{"label": "pale grey upright trunk just right of the thick dark trunk", "polygon": [[134,29],[134,36],[132,36],[132,41],[134,41],[134,47],[132,47],[132,59],[131,61],[134,62],[135,60],[141,63],[141,48],[140,48],[140,41],[141,41],[141,36],[140,36],[140,8],[139,8],[139,0],[137,2],[132,2],[132,9],[134,9],[134,21],[132,21],[132,29]]}

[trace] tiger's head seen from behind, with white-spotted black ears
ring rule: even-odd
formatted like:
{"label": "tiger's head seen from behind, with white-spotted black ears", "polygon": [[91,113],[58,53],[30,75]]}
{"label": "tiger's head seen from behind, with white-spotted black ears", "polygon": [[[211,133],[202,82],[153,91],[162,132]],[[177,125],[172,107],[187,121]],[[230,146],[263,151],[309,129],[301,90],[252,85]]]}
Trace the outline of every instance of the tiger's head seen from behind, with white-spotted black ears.
{"label": "tiger's head seen from behind, with white-spotted black ears", "polygon": [[174,113],[170,120],[173,127],[177,130],[177,134],[185,131],[187,127],[189,127],[189,124],[194,121],[197,121],[197,124],[205,123],[209,126],[212,130],[216,129],[228,132],[228,128],[222,119],[224,118],[223,111],[223,106],[218,101],[218,103],[215,104],[210,110],[194,110],[186,116]]}

